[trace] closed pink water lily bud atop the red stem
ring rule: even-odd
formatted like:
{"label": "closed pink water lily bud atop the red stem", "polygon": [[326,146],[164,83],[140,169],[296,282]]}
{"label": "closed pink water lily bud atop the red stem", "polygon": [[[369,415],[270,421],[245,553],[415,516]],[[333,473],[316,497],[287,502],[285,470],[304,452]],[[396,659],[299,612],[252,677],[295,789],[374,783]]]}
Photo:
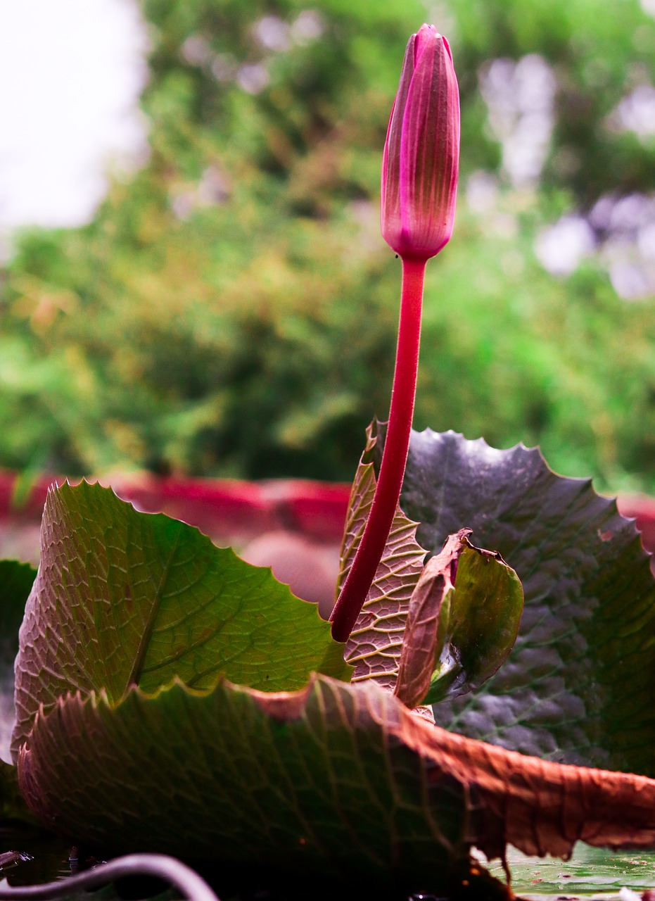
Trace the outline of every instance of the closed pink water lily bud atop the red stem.
{"label": "closed pink water lily bud atop the red stem", "polygon": [[448,41],[423,25],[405,50],[382,158],[382,236],[403,259],[450,241],[459,175],[459,88]]}

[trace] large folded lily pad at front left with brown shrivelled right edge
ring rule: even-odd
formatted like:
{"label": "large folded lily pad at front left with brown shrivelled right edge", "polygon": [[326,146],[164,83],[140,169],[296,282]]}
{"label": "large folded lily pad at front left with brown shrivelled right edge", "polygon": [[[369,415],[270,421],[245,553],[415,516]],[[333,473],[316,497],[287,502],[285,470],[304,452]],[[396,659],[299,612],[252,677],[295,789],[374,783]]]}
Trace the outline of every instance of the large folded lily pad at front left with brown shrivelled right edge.
{"label": "large folded lily pad at front left with brown shrivelled right edge", "polygon": [[655,780],[445,732],[372,679],[258,690],[347,678],[342,647],[195,529],[53,492],[17,660],[23,796],[76,842],[413,890],[472,876],[473,844],[655,844]]}

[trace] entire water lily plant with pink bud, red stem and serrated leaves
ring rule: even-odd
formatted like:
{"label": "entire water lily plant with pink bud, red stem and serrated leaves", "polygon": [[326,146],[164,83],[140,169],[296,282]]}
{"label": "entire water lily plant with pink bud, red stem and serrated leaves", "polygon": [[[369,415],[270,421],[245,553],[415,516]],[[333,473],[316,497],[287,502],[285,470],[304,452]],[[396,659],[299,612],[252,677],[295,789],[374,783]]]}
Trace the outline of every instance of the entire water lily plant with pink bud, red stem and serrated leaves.
{"label": "entire water lily plant with pink bud, red stem and serrated leaves", "polygon": [[2,564],[5,663],[22,619],[5,814],[107,854],[405,893],[506,894],[474,846],[655,847],[655,585],[633,524],[535,449],[411,432],[458,114],[424,25],[383,160],[391,411],[353,482],[332,625],[186,523],[53,487],[38,572]]}

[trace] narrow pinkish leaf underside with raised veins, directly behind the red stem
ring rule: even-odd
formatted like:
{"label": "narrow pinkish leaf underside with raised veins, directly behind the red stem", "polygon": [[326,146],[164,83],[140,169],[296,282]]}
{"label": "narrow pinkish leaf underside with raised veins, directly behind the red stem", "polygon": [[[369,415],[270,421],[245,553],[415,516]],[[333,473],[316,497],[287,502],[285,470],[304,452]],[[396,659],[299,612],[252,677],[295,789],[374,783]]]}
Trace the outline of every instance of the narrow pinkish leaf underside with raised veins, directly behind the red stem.
{"label": "narrow pinkish leaf underside with raised veins, directly behind the red stem", "polygon": [[[359,547],[376,487],[374,451],[384,425],[373,423],[350,492],[341,545],[337,590],[348,575]],[[346,642],[346,660],[354,666],[353,682],[372,679],[393,691],[405,631],[409,599],[423,569],[425,551],[416,542],[416,525],[398,507],[385,553],[357,623]]]}

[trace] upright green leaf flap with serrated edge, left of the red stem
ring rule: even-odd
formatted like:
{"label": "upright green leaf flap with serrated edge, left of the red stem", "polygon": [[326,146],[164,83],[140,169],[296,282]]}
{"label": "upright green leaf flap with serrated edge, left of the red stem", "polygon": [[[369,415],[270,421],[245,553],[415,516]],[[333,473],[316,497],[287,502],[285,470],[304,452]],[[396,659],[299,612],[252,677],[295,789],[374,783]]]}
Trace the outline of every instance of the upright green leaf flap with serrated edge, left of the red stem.
{"label": "upright green leaf flap with serrated edge, left of the red stem", "polygon": [[219,673],[279,691],[314,670],[348,678],[343,645],[269,569],[109,488],[50,492],[16,662],[14,754],[39,705],[68,691],[103,690],[115,704],[133,685],[203,688]]}

